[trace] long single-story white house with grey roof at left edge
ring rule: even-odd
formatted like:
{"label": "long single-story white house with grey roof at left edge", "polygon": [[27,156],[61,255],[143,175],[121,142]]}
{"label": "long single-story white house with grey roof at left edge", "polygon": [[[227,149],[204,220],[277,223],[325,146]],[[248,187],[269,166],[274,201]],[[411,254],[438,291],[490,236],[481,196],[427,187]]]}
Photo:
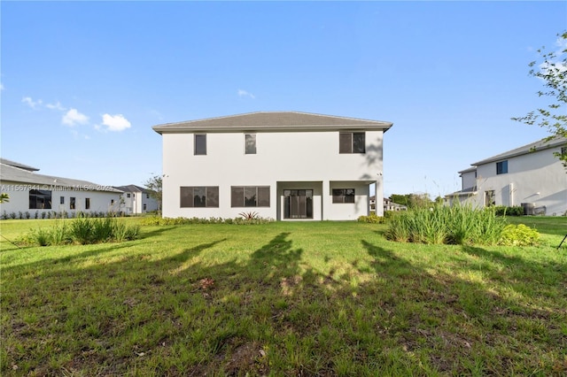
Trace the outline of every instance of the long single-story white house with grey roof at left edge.
{"label": "long single-story white house with grey roof at left edge", "polygon": [[0,213],[66,212],[72,216],[79,211],[118,211],[121,191],[89,181],[35,173],[38,170],[0,158],[0,191],[10,196],[8,202],[0,204]]}

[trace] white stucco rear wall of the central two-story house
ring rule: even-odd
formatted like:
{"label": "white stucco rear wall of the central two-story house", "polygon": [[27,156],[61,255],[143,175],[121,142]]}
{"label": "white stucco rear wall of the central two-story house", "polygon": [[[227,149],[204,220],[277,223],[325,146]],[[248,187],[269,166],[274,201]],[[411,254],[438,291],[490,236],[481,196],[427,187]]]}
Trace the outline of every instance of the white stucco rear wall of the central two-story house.
{"label": "white stucco rear wall of the central two-story house", "polygon": [[[257,212],[281,219],[281,190],[284,183],[289,186],[293,182],[315,190],[314,219],[367,215],[370,182],[377,182],[377,201],[381,203],[382,131],[366,131],[365,154],[339,154],[337,131],[250,134],[256,134],[256,154],[245,154],[245,133],[209,133],[206,156],[194,156],[193,134],[163,134],[163,216],[234,218],[239,212]],[[354,182],[353,208],[332,205],[331,181]],[[219,208],[180,208],[182,186],[218,186]],[[231,186],[269,186],[270,207],[231,208]]]}

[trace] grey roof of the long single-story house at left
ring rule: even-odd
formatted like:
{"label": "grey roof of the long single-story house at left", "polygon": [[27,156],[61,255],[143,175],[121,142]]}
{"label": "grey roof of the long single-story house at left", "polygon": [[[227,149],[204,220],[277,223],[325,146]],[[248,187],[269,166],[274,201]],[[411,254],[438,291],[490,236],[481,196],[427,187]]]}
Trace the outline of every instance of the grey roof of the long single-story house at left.
{"label": "grey roof of the long single-story house at left", "polygon": [[[38,189],[52,189],[54,186],[66,189],[81,189],[89,191],[111,191],[120,193],[121,191],[110,186],[97,185],[96,183],[71,178],[56,177],[54,175],[44,175],[31,172],[27,169],[16,167],[16,165],[4,164],[0,161],[0,181],[21,182],[31,185],[41,185]],[[9,161],[9,160],[8,160]],[[26,165],[23,165],[26,166]]]}

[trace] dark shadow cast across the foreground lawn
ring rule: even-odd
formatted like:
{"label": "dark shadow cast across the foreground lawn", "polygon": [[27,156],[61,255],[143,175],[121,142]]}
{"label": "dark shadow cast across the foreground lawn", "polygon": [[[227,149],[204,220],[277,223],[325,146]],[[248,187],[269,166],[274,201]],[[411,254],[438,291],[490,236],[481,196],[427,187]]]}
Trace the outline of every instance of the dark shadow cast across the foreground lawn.
{"label": "dark shadow cast across the foreground lawn", "polygon": [[[119,246],[110,245],[60,259],[41,279],[30,272],[42,271],[45,261],[22,266],[22,292],[14,283],[13,291],[1,297],[4,318],[11,319],[3,322],[10,344],[0,372],[28,365],[19,372],[337,375],[343,370],[352,375],[424,375],[472,374],[477,366],[481,374],[501,374],[513,370],[514,363],[527,362],[522,353],[507,350],[524,341],[514,338],[522,320],[565,318],[555,308],[535,309],[529,300],[498,296],[493,284],[443,273],[435,265],[413,264],[403,252],[374,242],[361,240],[368,258],[349,262],[347,273],[337,277],[303,265],[310,250],[294,248],[290,232],[266,238],[245,262],[237,257],[221,263],[198,258],[204,252],[214,256],[223,238],[188,244],[166,258],[144,253],[80,268],[59,263]],[[120,247],[127,250],[128,245]],[[162,246],[156,242],[155,247],[159,255]],[[462,251],[530,267],[521,258],[510,262],[498,252]],[[511,271],[501,272],[504,281],[513,281]],[[61,276],[74,282],[74,292],[58,296],[58,289],[45,290],[58,284],[65,290],[67,281],[60,281]],[[530,294],[535,298],[536,292]],[[86,297],[100,297],[106,306]],[[35,300],[52,308],[43,311],[29,304]],[[35,318],[35,326],[18,316]],[[103,324],[99,333],[89,332],[92,323]],[[567,336],[560,321],[544,323],[552,327],[532,330],[531,350],[541,356],[548,348],[558,355]],[[54,342],[52,335],[73,339],[55,344],[66,355],[60,365],[30,356],[37,344]],[[548,362],[536,360],[529,367],[544,363],[549,370]]]}

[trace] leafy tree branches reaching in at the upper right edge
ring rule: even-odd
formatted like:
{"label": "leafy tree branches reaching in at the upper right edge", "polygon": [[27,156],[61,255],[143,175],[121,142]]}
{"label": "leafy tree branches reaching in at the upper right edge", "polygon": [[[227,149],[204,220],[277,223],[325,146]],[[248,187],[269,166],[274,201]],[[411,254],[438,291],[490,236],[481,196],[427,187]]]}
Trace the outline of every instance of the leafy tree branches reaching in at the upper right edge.
{"label": "leafy tree branches reaching in at the upper right edge", "polygon": [[[556,137],[567,138],[567,31],[557,35],[559,50],[547,51],[545,47],[538,50],[540,63],[532,61],[529,75],[543,81],[545,89],[538,91],[538,96],[549,97],[551,104],[547,107],[528,112],[524,117],[512,118],[528,125],[547,128],[552,134],[548,140]],[[567,164],[567,149],[555,155]]]}

